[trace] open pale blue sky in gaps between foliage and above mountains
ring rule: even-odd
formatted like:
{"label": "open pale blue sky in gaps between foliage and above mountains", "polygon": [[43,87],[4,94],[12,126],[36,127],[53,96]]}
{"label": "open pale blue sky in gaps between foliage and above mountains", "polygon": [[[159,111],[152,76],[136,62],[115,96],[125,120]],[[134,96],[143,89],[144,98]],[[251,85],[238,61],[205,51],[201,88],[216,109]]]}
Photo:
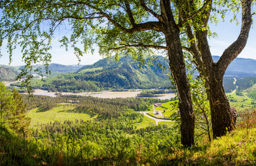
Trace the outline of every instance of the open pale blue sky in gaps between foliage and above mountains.
{"label": "open pale blue sky in gaps between foliage and above mountains", "polygon": [[[253,27],[250,29],[250,35],[248,37],[248,42],[246,44],[246,47],[238,57],[256,59],[256,21],[254,21],[254,24],[255,25],[253,25]],[[208,40],[212,55],[220,56],[223,53],[223,50],[225,50],[230,44],[232,44],[232,42],[235,41],[235,39],[237,39],[240,28],[241,28],[241,24],[236,26],[235,22],[230,23],[228,19],[227,21],[224,21],[224,22],[222,20],[219,20],[219,23],[217,24],[217,26],[210,24],[210,29],[212,30],[212,32],[215,32],[218,34],[218,37],[210,38]],[[51,50],[51,53],[53,55],[52,63],[65,64],[65,65],[78,64],[77,57],[75,57],[71,48],[70,50],[66,51],[64,47],[60,47],[60,43],[57,42],[57,39],[53,40],[52,46],[53,46],[53,49]],[[3,54],[3,56],[0,57],[0,64],[8,65],[9,57],[5,49],[2,48],[1,53]],[[21,50],[17,48],[17,50],[14,51],[14,54],[12,57],[12,63],[10,65],[11,66],[24,65],[24,62],[22,62],[21,57],[22,57]],[[98,54],[98,50],[96,48],[93,55],[89,53],[81,57],[80,65],[93,64],[97,62],[99,59],[102,59],[102,57]]]}

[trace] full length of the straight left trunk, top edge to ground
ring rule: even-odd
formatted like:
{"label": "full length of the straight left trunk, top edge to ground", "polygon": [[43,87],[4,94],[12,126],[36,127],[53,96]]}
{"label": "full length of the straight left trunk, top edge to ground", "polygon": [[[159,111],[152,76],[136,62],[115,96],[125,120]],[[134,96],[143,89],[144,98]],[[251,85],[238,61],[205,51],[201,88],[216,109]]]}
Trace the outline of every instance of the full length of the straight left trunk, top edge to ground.
{"label": "full length of the straight left trunk, top edge to ground", "polygon": [[179,95],[179,111],[181,113],[181,144],[191,146],[194,144],[194,112],[190,93],[190,84],[185,72],[185,62],[177,26],[169,0],[161,0],[161,17],[163,18],[172,78],[176,83]]}

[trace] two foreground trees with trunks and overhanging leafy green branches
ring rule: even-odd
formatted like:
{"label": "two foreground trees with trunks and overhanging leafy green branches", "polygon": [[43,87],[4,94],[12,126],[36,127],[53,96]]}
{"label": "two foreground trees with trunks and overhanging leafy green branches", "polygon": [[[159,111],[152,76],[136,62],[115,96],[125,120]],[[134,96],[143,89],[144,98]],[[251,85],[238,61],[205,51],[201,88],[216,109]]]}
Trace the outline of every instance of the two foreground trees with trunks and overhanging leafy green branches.
{"label": "two foreground trees with trunks and overhanging leafy green branches", "polygon": [[[51,61],[51,40],[55,30],[62,24],[71,26],[70,37],[60,42],[75,50],[77,57],[93,50],[98,44],[102,55],[124,52],[144,63],[143,56],[151,55],[154,49],[164,50],[170,62],[170,70],[176,83],[181,112],[181,142],[194,143],[194,113],[190,85],[185,72],[183,50],[192,53],[196,68],[206,80],[210,100],[214,138],[234,129],[230,106],[223,91],[223,75],[228,64],[235,59],[246,44],[252,23],[250,6],[253,0],[242,0],[241,34],[234,44],[226,49],[214,63],[207,42],[210,12],[232,8],[235,1],[223,10],[215,8],[219,1],[170,1],[170,0],[30,0],[1,1],[1,40],[8,39],[10,57],[19,44],[23,49],[26,66],[21,75],[27,75],[28,83],[33,63],[44,62],[46,69]],[[234,9],[234,8],[233,8]],[[235,8],[237,9],[237,8]],[[47,25],[43,26],[43,25]],[[84,45],[83,51],[77,42]],[[239,46],[238,46],[239,45]],[[21,76],[20,75],[20,76]]]}

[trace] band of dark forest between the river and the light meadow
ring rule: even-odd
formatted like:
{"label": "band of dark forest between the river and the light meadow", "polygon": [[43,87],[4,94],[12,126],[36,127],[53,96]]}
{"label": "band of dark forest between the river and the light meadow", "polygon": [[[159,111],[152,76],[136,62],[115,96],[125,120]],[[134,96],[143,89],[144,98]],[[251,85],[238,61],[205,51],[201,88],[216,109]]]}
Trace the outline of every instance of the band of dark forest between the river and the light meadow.
{"label": "band of dark forest between the river and the light meadow", "polygon": [[[89,114],[104,114],[105,116],[118,117],[124,111],[145,111],[149,109],[150,104],[154,102],[167,102],[169,100],[159,100],[154,98],[93,98],[79,95],[59,95],[50,97],[45,95],[34,95],[31,98],[29,95],[24,95],[24,102],[27,104],[27,109],[39,108],[42,111],[47,111],[55,107],[59,103],[70,102],[77,105],[77,112]],[[131,112],[132,112],[131,111]],[[105,117],[104,116],[104,117]]]}

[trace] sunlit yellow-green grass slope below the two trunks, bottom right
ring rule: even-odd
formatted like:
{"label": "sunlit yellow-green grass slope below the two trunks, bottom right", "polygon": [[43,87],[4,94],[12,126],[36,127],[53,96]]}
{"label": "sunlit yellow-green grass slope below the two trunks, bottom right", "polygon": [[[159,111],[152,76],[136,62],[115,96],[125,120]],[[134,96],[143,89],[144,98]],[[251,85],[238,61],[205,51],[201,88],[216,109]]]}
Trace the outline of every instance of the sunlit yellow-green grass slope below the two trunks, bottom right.
{"label": "sunlit yellow-green grass slope below the two trunks, bottom right", "polygon": [[174,148],[167,160],[172,165],[255,165],[256,129],[237,130],[191,149]]}

